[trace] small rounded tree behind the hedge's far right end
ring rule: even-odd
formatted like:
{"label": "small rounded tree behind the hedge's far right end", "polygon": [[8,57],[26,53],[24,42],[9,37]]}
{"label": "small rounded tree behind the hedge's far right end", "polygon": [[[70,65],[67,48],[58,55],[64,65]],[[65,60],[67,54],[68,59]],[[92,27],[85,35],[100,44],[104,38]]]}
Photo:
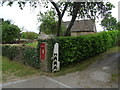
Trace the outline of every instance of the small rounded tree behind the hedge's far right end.
{"label": "small rounded tree behind the hedge's far right end", "polygon": [[104,27],[104,30],[116,30],[117,29],[117,20],[111,15],[106,15],[101,21],[101,25]]}

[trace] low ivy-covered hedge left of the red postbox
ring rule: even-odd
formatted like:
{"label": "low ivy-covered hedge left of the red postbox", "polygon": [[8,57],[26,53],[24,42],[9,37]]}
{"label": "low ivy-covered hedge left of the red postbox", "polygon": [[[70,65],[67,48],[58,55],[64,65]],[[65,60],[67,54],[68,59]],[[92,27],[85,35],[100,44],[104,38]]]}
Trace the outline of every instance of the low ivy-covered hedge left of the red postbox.
{"label": "low ivy-covered hedge left of the red postbox", "polygon": [[2,55],[25,65],[39,68],[38,52],[35,48],[3,45]]}

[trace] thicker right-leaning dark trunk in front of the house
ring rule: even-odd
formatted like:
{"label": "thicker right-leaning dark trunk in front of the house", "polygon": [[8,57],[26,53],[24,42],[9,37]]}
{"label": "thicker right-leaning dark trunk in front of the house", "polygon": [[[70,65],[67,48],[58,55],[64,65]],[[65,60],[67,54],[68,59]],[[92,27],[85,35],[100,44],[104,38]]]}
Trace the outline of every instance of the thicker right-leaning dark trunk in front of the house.
{"label": "thicker right-leaning dark trunk in front of the house", "polygon": [[75,22],[75,19],[77,17],[77,13],[80,9],[80,3],[79,2],[74,2],[74,6],[73,6],[73,15],[72,15],[72,19],[70,21],[70,24],[68,26],[68,28],[66,29],[66,31],[64,32],[63,36],[68,36],[69,35],[69,32]]}

